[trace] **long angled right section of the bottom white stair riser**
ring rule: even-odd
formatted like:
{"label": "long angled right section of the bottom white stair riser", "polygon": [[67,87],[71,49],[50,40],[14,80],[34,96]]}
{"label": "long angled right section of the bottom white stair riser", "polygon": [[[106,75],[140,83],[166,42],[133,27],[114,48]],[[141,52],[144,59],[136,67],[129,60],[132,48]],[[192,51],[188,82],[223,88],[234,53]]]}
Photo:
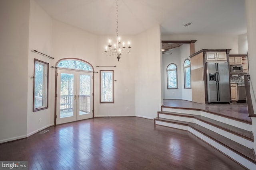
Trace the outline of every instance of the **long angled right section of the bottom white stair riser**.
{"label": "long angled right section of the bottom white stair riser", "polygon": [[251,161],[247,160],[246,158],[238,155],[236,152],[233,152],[232,150],[224,147],[223,145],[220,145],[216,141],[210,139],[209,137],[206,137],[202,133],[199,133],[198,131],[196,131],[196,130],[190,128],[190,127],[188,127],[188,131],[190,133],[194,134],[196,137],[202,139],[203,141],[205,141],[206,143],[208,143],[212,147],[216,148],[220,152],[222,152],[222,153],[226,154],[227,156],[229,156],[230,158],[234,159],[236,162],[242,164],[246,168],[248,168],[250,170],[254,170],[255,169],[256,164],[254,164]]}

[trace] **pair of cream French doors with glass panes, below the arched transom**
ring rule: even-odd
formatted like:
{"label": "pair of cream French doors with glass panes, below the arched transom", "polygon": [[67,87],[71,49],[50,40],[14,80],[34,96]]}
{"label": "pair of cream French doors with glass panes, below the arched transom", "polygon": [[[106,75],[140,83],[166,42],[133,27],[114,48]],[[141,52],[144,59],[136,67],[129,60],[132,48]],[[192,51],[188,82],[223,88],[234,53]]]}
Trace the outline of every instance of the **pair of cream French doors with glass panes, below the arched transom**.
{"label": "pair of cream French doors with glass panes, below the arched transom", "polygon": [[58,70],[56,124],[92,118],[92,74]]}

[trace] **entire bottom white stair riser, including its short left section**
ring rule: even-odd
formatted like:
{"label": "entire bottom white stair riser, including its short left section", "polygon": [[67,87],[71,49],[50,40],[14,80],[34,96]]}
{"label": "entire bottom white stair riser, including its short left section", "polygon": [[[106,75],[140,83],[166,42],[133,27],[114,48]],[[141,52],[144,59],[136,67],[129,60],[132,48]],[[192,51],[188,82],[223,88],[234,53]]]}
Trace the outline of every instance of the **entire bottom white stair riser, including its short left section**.
{"label": "entire bottom white stair riser, including its short left section", "polygon": [[202,141],[205,141],[215,149],[219,150],[220,152],[226,154],[230,158],[234,159],[236,162],[242,164],[246,168],[253,170],[256,166],[256,164],[252,163],[251,161],[247,160],[246,158],[238,155],[236,152],[224,147],[223,145],[219,144],[218,142],[210,139],[209,137],[205,136],[204,134],[194,130],[191,127],[188,127],[187,125],[180,125],[180,124],[172,124],[172,123],[167,123],[167,122],[162,122],[162,121],[157,121],[156,120],[156,125],[162,125],[162,126],[167,126],[167,127],[172,127],[176,129],[182,129],[182,130],[187,130],[196,137],[200,138]]}

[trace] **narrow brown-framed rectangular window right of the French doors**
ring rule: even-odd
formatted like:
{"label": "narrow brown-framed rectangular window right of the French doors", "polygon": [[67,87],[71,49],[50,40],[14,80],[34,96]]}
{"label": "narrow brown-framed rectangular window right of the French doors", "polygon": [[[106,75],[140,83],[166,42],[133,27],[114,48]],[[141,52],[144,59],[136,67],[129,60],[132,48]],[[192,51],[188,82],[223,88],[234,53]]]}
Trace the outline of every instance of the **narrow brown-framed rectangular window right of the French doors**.
{"label": "narrow brown-framed rectangular window right of the French doors", "polygon": [[100,103],[114,103],[114,70],[100,70]]}

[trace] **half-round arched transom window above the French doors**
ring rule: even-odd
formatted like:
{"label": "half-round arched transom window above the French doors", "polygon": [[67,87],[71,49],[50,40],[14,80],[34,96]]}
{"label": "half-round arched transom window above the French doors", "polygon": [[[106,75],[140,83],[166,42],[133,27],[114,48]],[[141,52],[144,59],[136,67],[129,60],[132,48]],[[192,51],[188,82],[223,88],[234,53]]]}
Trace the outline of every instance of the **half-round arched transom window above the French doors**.
{"label": "half-round arched transom window above the French doors", "polygon": [[75,69],[75,70],[92,71],[92,67],[89,64],[76,59],[62,60],[58,63],[57,66],[62,68]]}

